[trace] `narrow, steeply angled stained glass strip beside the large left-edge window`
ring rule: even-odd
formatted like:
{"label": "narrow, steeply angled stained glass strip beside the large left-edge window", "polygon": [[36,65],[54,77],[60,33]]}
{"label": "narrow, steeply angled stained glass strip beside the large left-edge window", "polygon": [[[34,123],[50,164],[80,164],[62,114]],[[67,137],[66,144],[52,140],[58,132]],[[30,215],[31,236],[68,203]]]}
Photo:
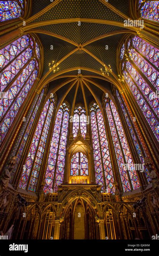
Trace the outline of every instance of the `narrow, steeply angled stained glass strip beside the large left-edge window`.
{"label": "narrow, steeply angled stained glass strip beside the large left-edge window", "polygon": [[15,155],[17,156],[16,164],[14,166],[14,169],[11,172],[11,179],[10,179],[11,184],[12,184],[12,181],[13,181],[13,178],[14,178],[14,174],[17,170],[19,161],[21,159],[22,153],[24,151],[24,147],[25,147],[25,145],[27,143],[27,140],[29,138],[29,134],[30,134],[31,128],[33,126],[34,120],[36,118],[41,100],[43,98],[43,95],[44,95],[44,89],[42,90],[39,97],[38,97],[38,95],[35,97],[35,100],[32,104],[32,107],[29,110],[29,113],[26,117],[25,122],[23,122],[23,125],[20,129],[20,132],[18,133],[17,139],[16,139],[16,141],[14,143],[14,146],[13,146],[13,149],[11,151],[10,156],[15,156]]}

